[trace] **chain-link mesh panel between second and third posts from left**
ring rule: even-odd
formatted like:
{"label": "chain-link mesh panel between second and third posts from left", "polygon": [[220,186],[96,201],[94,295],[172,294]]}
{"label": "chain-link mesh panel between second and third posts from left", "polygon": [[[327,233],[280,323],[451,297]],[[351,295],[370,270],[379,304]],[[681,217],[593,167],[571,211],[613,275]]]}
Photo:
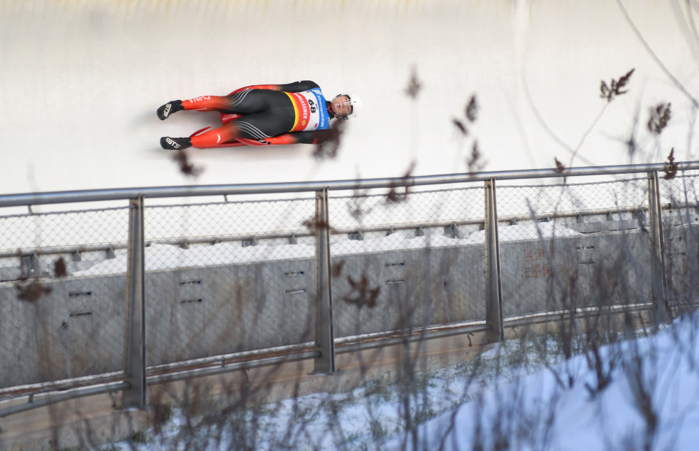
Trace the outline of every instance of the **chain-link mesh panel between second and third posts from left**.
{"label": "chain-link mesh panel between second and third posts from left", "polygon": [[336,337],[484,319],[483,188],[329,199]]}

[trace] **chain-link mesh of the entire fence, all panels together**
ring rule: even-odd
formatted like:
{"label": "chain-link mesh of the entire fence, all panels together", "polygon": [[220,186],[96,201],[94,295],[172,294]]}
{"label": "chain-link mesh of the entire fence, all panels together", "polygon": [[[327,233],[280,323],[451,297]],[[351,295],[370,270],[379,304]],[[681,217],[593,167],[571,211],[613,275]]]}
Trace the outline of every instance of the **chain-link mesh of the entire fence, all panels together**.
{"label": "chain-link mesh of the entire fence, all panels together", "polygon": [[668,302],[693,302],[695,179],[658,182],[656,173],[496,188],[493,178],[487,186],[431,191],[408,191],[394,180],[381,194],[357,188],[254,201],[229,194],[182,205],[146,199],[140,291],[128,288],[141,270],[130,258],[138,249],[133,205],[0,216],[0,361],[13,362],[0,369],[0,390],[124,377],[127,318],[139,293],[150,374],[254,351],[322,348],[325,314],[332,341],[476,322],[495,327],[493,309],[501,329],[503,318],[561,309],[660,305],[656,249]]}

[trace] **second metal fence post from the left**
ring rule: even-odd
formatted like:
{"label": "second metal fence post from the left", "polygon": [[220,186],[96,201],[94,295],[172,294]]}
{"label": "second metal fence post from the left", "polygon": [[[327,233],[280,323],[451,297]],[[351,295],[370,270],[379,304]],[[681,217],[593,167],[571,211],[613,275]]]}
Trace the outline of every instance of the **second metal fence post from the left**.
{"label": "second metal fence post from the left", "polygon": [[315,193],[315,280],[317,330],[316,344],[320,357],[315,360],[314,373],[335,372],[335,334],[333,331],[333,295],[331,288],[330,228],[328,190]]}

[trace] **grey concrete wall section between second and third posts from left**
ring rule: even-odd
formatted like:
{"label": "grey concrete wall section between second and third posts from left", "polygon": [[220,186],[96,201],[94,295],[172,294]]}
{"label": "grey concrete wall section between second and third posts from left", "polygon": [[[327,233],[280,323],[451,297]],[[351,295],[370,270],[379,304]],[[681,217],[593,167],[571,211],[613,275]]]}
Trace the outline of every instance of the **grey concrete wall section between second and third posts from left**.
{"label": "grey concrete wall section between second and third posts from left", "polygon": [[333,258],[337,338],[485,318],[484,246]]}

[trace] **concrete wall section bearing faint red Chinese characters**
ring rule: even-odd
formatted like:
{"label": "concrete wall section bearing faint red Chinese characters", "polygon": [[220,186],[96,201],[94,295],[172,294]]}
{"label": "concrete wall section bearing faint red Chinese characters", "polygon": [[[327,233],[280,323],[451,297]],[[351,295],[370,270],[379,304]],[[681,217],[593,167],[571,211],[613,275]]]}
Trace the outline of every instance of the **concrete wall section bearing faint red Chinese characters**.
{"label": "concrete wall section bearing faint red Chinese characters", "polygon": [[642,230],[500,244],[503,316],[651,300]]}

